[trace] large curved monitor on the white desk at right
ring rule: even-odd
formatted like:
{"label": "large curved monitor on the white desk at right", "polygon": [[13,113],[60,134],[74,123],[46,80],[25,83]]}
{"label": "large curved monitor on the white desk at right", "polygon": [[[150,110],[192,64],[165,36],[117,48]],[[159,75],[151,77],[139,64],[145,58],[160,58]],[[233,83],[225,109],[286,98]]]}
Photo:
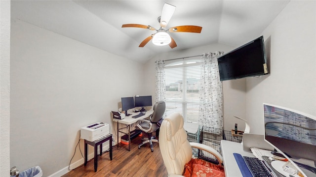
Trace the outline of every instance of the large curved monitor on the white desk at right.
{"label": "large curved monitor on the white desk at right", "polygon": [[[305,177],[316,177],[316,117],[266,103],[263,108],[265,141]],[[272,165],[274,162],[278,161],[273,161]]]}

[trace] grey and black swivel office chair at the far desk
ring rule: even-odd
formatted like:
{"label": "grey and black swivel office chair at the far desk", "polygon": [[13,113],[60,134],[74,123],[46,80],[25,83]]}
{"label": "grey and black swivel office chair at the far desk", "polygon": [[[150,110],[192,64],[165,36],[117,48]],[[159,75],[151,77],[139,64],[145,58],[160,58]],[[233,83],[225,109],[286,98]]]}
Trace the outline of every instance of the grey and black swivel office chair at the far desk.
{"label": "grey and black swivel office chair at the far desk", "polygon": [[152,152],[154,151],[153,148],[153,142],[159,143],[158,140],[155,139],[155,137],[152,136],[152,133],[156,131],[156,135],[158,136],[159,133],[159,127],[161,125],[161,122],[163,120],[162,116],[164,114],[164,111],[166,109],[166,104],[164,101],[158,101],[154,105],[154,113],[152,114],[150,120],[142,119],[138,120],[136,123],[136,128],[142,130],[143,132],[148,133],[148,138],[142,138],[143,143],[138,145],[138,148],[145,145],[146,143],[150,143],[150,148],[152,149]]}

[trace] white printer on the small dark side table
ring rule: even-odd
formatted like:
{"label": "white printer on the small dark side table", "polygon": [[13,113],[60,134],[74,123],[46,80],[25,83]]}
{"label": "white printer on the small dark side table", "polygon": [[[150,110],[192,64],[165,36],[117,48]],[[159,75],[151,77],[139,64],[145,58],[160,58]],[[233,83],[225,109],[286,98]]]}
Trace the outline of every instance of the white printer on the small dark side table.
{"label": "white printer on the small dark side table", "polygon": [[81,127],[80,138],[93,142],[110,133],[110,126],[107,123],[97,122]]}

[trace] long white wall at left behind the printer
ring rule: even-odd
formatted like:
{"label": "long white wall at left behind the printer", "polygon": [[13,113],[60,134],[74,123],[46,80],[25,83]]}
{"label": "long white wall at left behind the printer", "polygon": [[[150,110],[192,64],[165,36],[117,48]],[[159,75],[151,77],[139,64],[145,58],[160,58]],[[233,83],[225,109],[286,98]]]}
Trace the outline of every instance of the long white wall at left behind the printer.
{"label": "long white wall at left behind the printer", "polygon": [[143,90],[143,64],[19,20],[11,22],[10,67],[10,164],[39,165],[44,177],[67,171],[80,127],[112,124],[120,98]]}

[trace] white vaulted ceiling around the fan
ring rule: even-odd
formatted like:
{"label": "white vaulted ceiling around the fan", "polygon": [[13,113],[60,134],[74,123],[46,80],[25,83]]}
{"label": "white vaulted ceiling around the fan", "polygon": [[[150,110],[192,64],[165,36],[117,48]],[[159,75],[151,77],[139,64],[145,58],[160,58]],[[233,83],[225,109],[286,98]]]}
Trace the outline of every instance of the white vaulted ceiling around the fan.
{"label": "white vaulted ceiling around the fan", "polygon": [[[139,44],[159,29],[164,2],[176,10],[167,28],[201,26],[201,33],[170,34],[177,47]],[[11,0],[11,18],[59,33],[113,54],[146,62],[161,52],[221,43],[238,47],[259,37],[289,0]]]}

